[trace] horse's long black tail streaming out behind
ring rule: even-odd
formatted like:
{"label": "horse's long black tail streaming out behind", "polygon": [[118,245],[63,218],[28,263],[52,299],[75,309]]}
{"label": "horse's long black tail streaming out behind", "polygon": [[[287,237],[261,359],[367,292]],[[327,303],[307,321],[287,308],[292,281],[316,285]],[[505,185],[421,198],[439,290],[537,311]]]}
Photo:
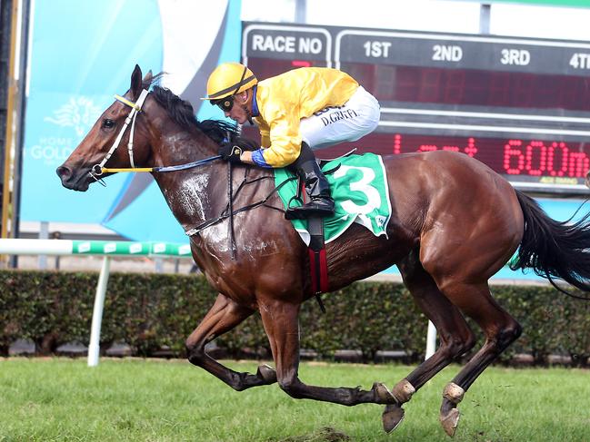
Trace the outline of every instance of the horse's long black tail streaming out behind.
{"label": "horse's long black tail streaming out behind", "polygon": [[510,268],[531,268],[560,291],[565,292],[554,278],[590,291],[590,213],[576,222],[571,222],[573,217],[555,221],[525,193],[516,191],[516,196],[525,216],[525,232]]}

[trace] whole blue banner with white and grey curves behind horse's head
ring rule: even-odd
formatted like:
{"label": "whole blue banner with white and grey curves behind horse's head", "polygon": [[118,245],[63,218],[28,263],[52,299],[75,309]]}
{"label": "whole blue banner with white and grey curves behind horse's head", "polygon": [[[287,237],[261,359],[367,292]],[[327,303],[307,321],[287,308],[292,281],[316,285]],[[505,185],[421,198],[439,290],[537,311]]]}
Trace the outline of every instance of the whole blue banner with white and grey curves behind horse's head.
{"label": "whole blue banner with white and grey curves behind horse's head", "polygon": [[191,102],[199,119],[223,118],[199,98],[216,64],[239,61],[240,9],[240,0],[35,2],[21,220],[103,223],[135,241],[187,241],[151,176],[121,173],[106,187],[73,192],[55,168],[113,95],[129,88],[135,64],[168,73],[162,84]]}

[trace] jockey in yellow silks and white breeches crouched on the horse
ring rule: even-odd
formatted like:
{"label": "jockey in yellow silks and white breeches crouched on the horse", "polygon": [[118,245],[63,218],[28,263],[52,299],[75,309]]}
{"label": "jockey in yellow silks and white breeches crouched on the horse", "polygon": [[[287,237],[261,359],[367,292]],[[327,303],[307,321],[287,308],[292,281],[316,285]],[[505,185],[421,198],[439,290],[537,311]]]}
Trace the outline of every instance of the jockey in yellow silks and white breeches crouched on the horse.
{"label": "jockey in yellow silks and white breeches crouched on the horse", "polygon": [[312,149],[354,142],[379,123],[379,103],[350,75],[336,69],[302,67],[261,82],[245,65],[217,66],[207,81],[207,97],[239,124],[258,125],[262,147],[246,151],[221,146],[228,162],[288,167],[304,182],[309,202],[289,209],[285,218],[334,214],[330,187]]}

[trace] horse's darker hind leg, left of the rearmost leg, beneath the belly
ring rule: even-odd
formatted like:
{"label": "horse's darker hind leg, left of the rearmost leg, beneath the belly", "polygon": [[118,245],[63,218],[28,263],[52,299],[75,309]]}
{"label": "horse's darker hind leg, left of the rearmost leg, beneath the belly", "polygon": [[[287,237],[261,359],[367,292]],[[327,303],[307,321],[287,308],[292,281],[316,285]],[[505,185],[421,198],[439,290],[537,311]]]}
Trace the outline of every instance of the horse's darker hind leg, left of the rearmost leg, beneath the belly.
{"label": "horse's darker hind leg, left of the rearmost leg, beneath the belly", "polygon": [[426,359],[393,388],[397,403],[388,405],[383,415],[383,425],[387,432],[393,430],[404,417],[401,406],[410,400],[418,388],[475,345],[475,336],[463,315],[438,290],[435,281],[417,259],[416,253],[412,252],[398,264],[398,268],[404,278],[405,287],[412,293],[416,304],[435,324],[440,346],[431,358]]}

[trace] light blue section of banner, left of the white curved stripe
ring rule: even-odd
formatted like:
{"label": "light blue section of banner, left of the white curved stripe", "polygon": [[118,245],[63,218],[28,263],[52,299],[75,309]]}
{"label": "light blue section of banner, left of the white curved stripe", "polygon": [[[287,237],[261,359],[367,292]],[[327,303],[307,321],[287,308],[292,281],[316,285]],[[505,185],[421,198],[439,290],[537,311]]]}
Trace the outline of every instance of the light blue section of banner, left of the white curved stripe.
{"label": "light blue section of banner, left of the white curved stripe", "polygon": [[82,141],[135,63],[162,66],[155,0],[35,2],[25,113],[22,221],[99,222],[125,182],[88,192],[62,187],[55,168]]}

